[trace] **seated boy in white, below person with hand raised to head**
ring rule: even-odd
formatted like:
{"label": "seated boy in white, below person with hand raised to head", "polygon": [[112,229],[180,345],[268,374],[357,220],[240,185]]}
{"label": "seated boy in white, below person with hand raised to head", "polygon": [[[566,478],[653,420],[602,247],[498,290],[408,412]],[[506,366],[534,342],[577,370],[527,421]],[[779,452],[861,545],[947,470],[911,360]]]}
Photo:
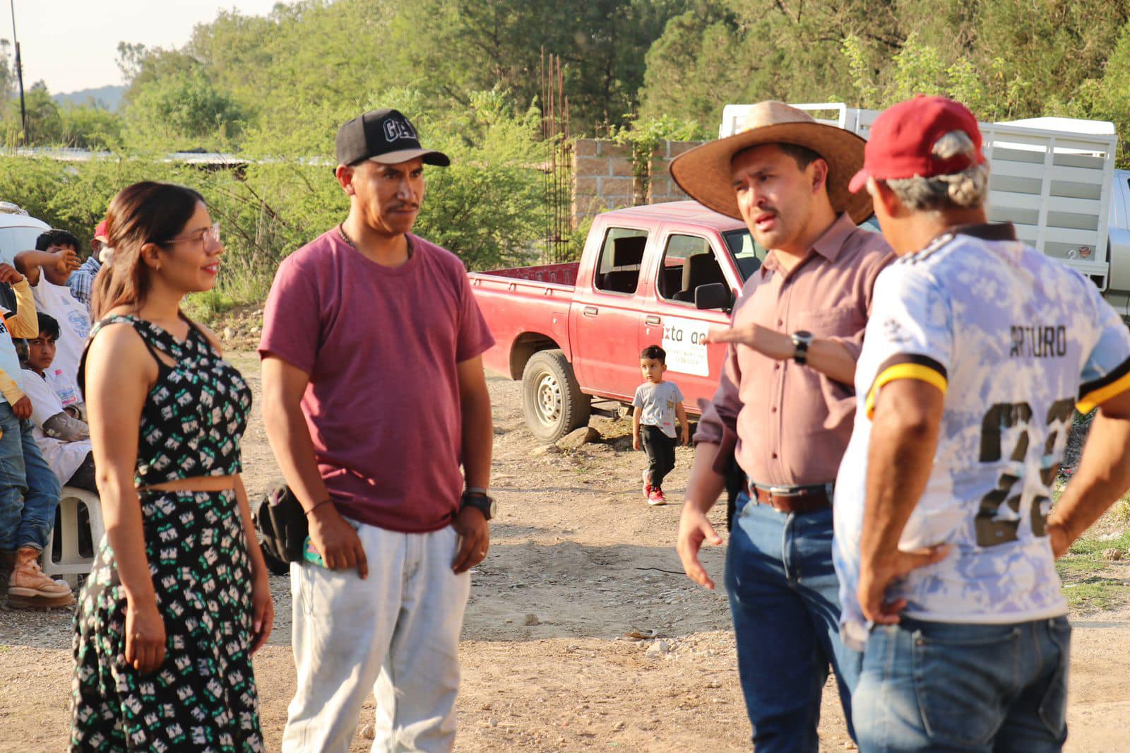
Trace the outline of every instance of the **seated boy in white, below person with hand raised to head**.
{"label": "seated boy in white, below person with hand raised to head", "polygon": [[90,430],[81,416],[85,406],[73,382],[52,369],[59,322],[40,313],[40,335],[20,348],[24,393],[32,400],[32,435],[63,486],[97,493]]}

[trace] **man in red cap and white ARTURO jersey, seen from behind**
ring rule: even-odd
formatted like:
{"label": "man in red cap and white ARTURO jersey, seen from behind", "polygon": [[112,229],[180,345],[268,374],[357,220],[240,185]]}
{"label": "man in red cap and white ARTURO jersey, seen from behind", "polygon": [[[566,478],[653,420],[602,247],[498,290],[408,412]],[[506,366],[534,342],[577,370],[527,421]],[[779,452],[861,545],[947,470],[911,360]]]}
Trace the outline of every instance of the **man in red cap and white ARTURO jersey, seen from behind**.
{"label": "man in red cap and white ARTURO jersey, seen from behind", "polygon": [[[1130,332],[1083,275],[989,224],[972,113],[915,97],[871,130],[899,259],[875,285],[835,492],[861,751],[1059,751],[1071,629],[1055,557],[1130,486]],[[1076,406],[1098,407],[1051,509]]]}

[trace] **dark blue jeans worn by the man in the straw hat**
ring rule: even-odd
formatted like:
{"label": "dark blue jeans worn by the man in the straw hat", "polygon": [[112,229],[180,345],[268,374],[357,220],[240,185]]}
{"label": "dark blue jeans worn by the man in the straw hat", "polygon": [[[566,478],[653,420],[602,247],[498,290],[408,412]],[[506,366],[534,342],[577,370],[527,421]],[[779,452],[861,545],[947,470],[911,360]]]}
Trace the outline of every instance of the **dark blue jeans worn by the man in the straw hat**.
{"label": "dark blue jeans worn by the man in the straw hat", "polygon": [[816,751],[828,664],[847,732],[861,655],[840,640],[832,510],[785,514],[738,495],[725,557],[738,674],[758,753]]}

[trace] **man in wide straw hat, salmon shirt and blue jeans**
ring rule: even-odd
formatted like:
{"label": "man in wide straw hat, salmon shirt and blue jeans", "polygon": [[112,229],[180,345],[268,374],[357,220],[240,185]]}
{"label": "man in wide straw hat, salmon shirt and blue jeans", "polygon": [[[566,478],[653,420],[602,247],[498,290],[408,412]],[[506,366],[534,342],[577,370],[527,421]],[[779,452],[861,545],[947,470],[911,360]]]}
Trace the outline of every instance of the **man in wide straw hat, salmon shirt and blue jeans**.
{"label": "man in wide straw hat, salmon shirt and blue jeans", "polygon": [[835,669],[851,730],[859,655],[840,641],[832,565],[832,486],[854,417],[852,380],[871,288],[892,260],[857,225],[871,208],[847,191],[863,140],[763,102],[736,136],[678,157],[671,175],[694,199],[746,222],[770,250],[746,283],[718,392],[695,434],[679,522],[687,575],[721,544],[706,519],[734,451],[748,476],[725,566],[738,670],[758,751],[816,751],[820,695]]}

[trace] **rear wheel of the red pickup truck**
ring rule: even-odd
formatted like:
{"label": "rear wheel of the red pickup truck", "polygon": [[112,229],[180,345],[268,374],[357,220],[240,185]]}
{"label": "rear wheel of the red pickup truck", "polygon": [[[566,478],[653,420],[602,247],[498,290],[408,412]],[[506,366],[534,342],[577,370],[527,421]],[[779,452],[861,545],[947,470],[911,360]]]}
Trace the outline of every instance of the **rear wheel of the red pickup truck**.
{"label": "rear wheel of the red pickup truck", "polygon": [[530,432],[546,443],[589,424],[590,398],[559,349],[538,350],[525,363],[522,408]]}

